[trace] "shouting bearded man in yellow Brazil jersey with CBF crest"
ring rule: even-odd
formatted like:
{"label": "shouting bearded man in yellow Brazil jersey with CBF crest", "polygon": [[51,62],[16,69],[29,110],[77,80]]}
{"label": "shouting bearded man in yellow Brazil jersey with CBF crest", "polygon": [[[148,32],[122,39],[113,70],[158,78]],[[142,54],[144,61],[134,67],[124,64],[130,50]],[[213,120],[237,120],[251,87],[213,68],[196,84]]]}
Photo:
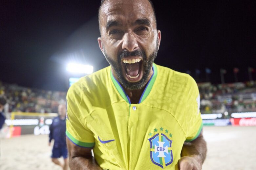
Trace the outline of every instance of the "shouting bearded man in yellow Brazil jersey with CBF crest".
{"label": "shouting bearded man in yellow Brazil jersey with CBF crest", "polygon": [[99,29],[110,67],[68,91],[70,168],[201,169],[206,143],[198,87],[189,75],[153,63],[161,32],[152,3],[104,0]]}

